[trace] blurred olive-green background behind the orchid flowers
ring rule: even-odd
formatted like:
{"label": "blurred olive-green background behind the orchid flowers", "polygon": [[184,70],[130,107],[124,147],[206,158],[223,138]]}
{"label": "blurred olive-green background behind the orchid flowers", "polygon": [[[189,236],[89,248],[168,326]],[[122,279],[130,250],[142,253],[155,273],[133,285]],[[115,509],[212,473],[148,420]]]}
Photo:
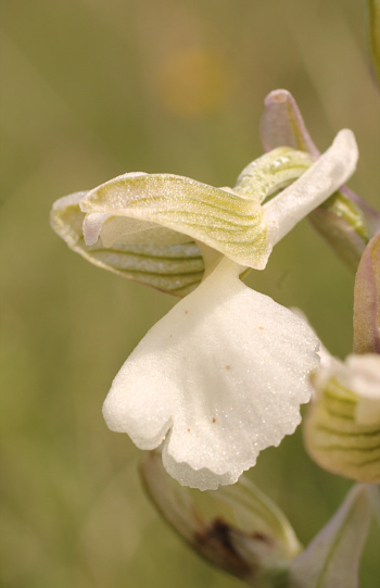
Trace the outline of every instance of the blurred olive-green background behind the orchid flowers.
{"label": "blurred olive-green background behind the orchid flowers", "polygon": [[[240,586],[188,550],[140,487],[140,452],[111,433],[112,378],[175,299],[72,253],[59,197],[128,171],[232,186],[262,153],[263,100],[296,98],[326,149],[352,128],[350,186],[379,205],[379,100],[357,0],[1,1],[3,586]],[[306,221],[249,283],[306,312],[332,353],[352,348],[353,275]],[[307,542],[351,486],[301,435],[250,476]],[[362,587],[380,575],[379,534]]]}

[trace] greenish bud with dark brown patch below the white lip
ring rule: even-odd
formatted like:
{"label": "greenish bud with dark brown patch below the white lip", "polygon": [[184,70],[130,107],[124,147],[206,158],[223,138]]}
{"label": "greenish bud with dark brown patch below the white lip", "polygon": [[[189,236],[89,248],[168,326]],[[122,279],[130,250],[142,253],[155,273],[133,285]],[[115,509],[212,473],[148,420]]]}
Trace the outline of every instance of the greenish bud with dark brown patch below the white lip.
{"label": "greenish bud with dark brown patch below the white lip", "polygon": [[278,506],[242,476],[217,491],[180,486],[151,451],[140,473],[163,517],[199,554],[256,588],[275,588],[300,552],[295,534]]}

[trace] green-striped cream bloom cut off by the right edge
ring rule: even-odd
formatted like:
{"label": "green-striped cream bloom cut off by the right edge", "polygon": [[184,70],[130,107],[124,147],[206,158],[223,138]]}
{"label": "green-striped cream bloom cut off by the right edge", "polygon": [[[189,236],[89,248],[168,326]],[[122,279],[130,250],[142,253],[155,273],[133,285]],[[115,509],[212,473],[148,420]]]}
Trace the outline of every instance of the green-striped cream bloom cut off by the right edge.
{"label": "green-striped cream bloom cut off by the right edge", "polygon": [[312,381],[316,395],[304,424],[312,458],[335,474],[380,483],[380,355],[331,358]]}

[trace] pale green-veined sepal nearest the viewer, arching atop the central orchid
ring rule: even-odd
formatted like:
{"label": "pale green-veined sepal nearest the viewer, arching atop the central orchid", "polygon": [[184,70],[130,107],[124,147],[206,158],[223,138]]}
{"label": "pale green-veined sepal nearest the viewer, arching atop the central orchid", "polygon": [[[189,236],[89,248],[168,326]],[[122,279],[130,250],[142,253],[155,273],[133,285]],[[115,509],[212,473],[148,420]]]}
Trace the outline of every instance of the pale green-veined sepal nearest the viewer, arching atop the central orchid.
{"label": "pale green-veined sepal nearest the viewer, arching atop the central orchid", "polygon": [[258,270],[266,265],[276,229],[269,227],[257,200],[172,174],[118,176],[89,192],[80,208],[87,213],[124,217],[118,226],[122,230],[113,232],[117,242],[123,233],[130,233],[132,218],[148,222],[153,230],[152,223],[189,235]]}

